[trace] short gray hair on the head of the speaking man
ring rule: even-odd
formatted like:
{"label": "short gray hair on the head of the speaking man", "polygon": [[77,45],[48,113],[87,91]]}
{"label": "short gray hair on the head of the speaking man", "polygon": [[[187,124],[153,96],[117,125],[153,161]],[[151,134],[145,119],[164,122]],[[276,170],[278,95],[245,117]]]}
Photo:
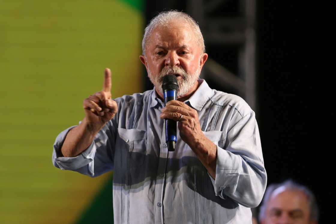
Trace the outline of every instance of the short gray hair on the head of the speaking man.
{"label": "short gray hair on the head of the speaking man", "polygon": [[148,46],[148,39],[151,36],[153,30],[157,26],[167,26],[168,23],[172,20],[181,20],[183,23],[190,25],[197,38],[197,43],[201,47],[201,52],[204,53],[205,52],[204,39],[197,22],[185,12],[170,10],[160,12],[157,16],[152,18],[151,22],[145,28],[145,32],[142,38],[142,54],[145,55],[145,50],[146,47]]}

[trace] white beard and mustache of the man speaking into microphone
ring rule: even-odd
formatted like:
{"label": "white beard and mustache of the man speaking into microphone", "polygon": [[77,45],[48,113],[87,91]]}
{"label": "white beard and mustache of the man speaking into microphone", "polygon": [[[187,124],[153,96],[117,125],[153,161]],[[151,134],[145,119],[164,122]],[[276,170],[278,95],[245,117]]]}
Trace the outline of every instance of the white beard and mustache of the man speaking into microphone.
{"label": "white beard and mustache of the man speaking into microphone", "polygon": [[148,77],[155,86],[156,91],[158,91],[161,95],[163,95],[162,81],[164,76],[168,74],[178,74],[182,76],[182,80],[177,80],[177,98],[186,96],[200,77],[200,67],[197,68],[194,74],[188,74],[184,71],[184,69],[180,67],[164,67],[159,75],[153,75],[149,69],[147,70],[147,72]]}

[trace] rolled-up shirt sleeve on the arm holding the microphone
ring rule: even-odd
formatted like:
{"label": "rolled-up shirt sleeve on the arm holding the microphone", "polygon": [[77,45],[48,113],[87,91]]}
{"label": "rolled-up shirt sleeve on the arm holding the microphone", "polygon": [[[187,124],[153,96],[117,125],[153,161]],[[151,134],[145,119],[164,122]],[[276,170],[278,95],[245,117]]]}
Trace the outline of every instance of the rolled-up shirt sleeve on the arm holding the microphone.
{"label": "rolled-up shirt sleeve on the arm holding the microphone", "polygon": [[246,207],[256,207],[264,194],[267,175],[263,164],[254,112],[242,117],[226,136],[226,148],[217,145],[216,177],[209,175],[215,194]]}

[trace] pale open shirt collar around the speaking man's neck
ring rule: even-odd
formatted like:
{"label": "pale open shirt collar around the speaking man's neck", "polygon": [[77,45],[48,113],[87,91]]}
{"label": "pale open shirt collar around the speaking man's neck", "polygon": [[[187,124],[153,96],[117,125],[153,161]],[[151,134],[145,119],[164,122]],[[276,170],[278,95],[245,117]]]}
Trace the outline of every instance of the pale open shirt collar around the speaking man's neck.
{"label": "pale open shirt collar around the speaking man's neck", "polygon": [[[187,103],[194,109],[201,111],[205,103],[208,101],[212,89],[204,79],[199,79],[198,81],[201,83],[200,86],[188,100],[184,101],[184,103]],[[152,92],[151,107],[155,107],[158,103],[160,103],[162,106],[164,105],[162,100],[157,96],[154,87]]]}

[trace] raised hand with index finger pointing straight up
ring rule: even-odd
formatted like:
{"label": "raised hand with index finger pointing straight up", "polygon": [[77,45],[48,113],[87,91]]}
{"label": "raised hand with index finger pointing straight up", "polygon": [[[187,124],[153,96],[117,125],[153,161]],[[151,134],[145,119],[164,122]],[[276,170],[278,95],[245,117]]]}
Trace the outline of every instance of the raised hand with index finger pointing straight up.
{"label": "raised hand with index finger pointing straight up", "polygon": [[118,106],[111,100],[111,70],[106,68],[102,91],[96,92],[83,101],[84,120],[93,130],[100,130],[117,113]]}

